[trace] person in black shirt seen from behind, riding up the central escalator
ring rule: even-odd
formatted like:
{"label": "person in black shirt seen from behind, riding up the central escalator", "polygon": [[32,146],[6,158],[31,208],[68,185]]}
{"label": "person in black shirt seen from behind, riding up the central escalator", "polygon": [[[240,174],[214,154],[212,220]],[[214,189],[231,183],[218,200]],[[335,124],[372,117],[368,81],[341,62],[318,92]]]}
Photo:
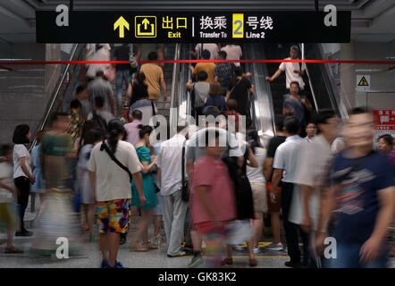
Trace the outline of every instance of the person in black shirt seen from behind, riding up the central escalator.
{"label": "person in black shirt seen from behind, riding up the central escalator", "polygon": [[238,103],[236,111],[241,115],[249,114],[249,101],[250,97],[254,95],[254,86],[251,82],[243,76],[243,70],[241,67],[236,67],[235,78],[231,80],[228,86],[228,93],[226,100],[235,99]]}

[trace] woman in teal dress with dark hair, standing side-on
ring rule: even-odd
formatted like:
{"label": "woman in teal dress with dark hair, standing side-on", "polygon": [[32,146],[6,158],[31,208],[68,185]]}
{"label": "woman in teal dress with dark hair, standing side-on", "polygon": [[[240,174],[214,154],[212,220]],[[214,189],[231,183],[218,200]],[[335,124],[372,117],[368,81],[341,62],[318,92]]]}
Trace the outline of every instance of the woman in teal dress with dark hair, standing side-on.
{"label": "woman in teal dress with dark hair, standing side-on", "polygon": [[[151,126],[139,125],[139,142],[135,145],[136,152],[139,156],[139,160],[142,164],[142,175],[143,175],[143,189],[146,197],[146,203],[141,205],[139,202],[138,191],[134,182],[132,182],[132,206],[139,206],[141,210],[141,219],[133,240],[130,243],[130,248],[134,251],[147,251],[149,249],[156,249],[157,247],[152,245],[148,241],[148,223],[154,219],[154,208],[157,205],[157,198],[155,193],[155,184],[152,177],[152,169],[156,164],[156,156],[151,156],[151,150],[149,149],[149,136],[153,131]],[[141,243],[142,240],[142,243]]]}

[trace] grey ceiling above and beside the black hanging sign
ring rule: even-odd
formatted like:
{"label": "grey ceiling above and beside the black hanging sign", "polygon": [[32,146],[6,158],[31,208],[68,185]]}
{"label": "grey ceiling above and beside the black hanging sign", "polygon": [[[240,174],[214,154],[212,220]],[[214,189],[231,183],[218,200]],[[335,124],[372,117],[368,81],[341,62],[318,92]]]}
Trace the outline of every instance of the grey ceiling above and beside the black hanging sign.
{"label": "grey ceiling above and beside the black hanging sign", "polygon": [[[73,2],[74,10],[314,10],[315,0],[7,0],[0,2],[0,43],[35,42],[36,10],[55,10]],[[395,0],[319,0],[352,12],[352,38],[391,42],[395,39]]]}

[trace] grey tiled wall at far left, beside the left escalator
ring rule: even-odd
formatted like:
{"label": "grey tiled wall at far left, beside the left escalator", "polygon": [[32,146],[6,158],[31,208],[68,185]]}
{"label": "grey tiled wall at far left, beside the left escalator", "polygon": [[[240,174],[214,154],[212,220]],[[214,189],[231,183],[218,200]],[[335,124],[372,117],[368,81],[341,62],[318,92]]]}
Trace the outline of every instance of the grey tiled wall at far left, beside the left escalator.
{"label": "grey tiled wall at far left, beside the left escalator", "polygon": [[[2,45],[0,58],[45,60],[46,46],[35,43]],[[35,130],[45,107],[44,66],[10,66],[0,69],[0,143],[11,143],[16,125]]]}

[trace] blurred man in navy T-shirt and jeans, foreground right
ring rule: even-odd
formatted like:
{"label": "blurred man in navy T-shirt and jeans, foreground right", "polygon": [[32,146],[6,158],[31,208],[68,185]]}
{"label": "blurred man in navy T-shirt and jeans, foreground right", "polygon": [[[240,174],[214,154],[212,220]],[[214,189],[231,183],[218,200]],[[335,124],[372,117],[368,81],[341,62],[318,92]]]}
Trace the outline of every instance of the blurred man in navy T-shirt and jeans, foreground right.
{"label": "blurred man in navy T-shirt and jeans, foreground right", "polygon": [[344,130],[347,148],[332,162],[332,187],[323,196],[316,238],[316,247],[322,250],[332,219],[336,241],[329,259],[332,268],[387,266],[385,238],[393,218],[395,188],[390,161],[373,150],[373,128],[372,114],[354,109]]}

